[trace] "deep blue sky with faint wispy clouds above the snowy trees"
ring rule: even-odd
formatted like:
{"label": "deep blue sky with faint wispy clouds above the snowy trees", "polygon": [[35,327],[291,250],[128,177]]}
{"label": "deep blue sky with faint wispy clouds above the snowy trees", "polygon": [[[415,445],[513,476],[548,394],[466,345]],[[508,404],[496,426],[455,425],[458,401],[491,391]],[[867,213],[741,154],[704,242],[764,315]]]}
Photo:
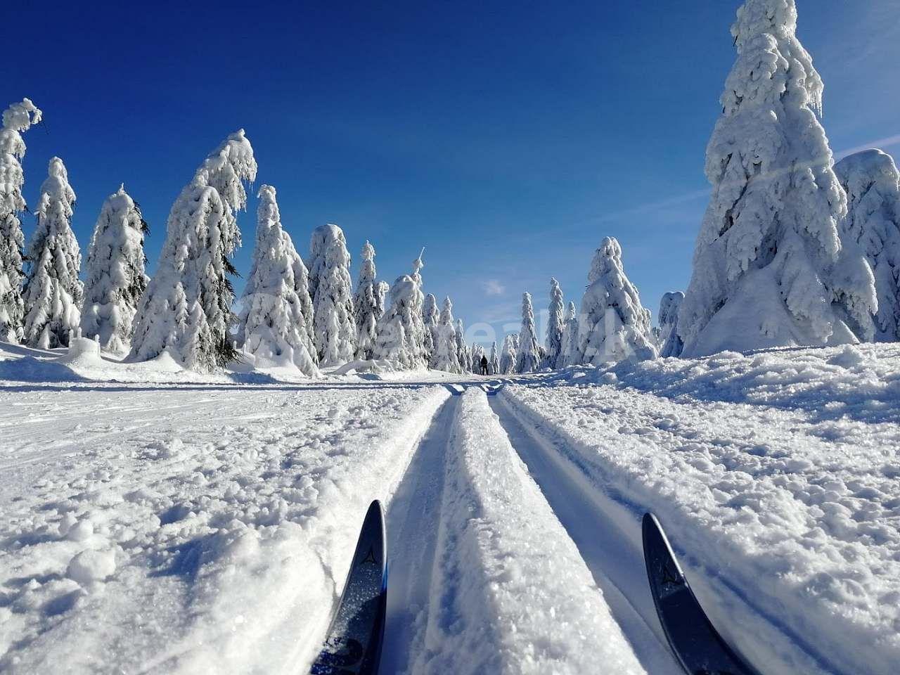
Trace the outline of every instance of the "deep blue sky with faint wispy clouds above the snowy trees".
{"label": "deep blue sky with faint wispy clouds above the snowy trees", "polygon": [[[152,270],[175,196],[243,127],[257,185],[275,185],[304,255],[334,222],[354,277],[369,238],[390,282],[424,246],[426,292],[500,332],[523,291],[545,307],[552,275],[580,302],[594,249],[615,236],[655,315],[689,281],[739,4],[16,3],[0,103],[44,111],[25,136],[25,195],[37,201],[62,157],[83,250],[124,182],[150,223]],[[835,153],[881,141],[898,154],[900,0],[797,7]],[[256,205],[238,218],[248,244]]]}

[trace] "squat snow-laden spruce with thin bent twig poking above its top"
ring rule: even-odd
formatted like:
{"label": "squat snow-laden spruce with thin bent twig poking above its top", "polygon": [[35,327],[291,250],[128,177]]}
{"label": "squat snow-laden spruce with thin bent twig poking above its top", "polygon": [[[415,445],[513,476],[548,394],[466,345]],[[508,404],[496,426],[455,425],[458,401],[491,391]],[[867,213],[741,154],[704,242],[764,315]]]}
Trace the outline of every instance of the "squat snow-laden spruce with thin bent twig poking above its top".
{"label": "squat snow-laden spruce with thin bent twig poking above its top", "polygon": [[402,275],[391,287],[391,307],[378,322],[373,358],[389,361],[403,370],[426,367],[416,346],[417,318],[421,320],[419,284]]}

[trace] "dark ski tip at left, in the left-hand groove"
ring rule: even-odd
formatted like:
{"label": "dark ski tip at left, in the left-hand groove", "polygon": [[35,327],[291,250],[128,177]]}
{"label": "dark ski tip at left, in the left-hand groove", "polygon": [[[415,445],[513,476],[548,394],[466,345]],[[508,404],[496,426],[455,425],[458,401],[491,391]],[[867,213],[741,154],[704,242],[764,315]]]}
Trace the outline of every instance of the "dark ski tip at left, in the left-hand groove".
{"label": "dark ski tip at left, in the left-hand groove", "polygon": [[338,611],[311,675],[377,675],[387,608],[387,539],[375,500],[365,514]]}

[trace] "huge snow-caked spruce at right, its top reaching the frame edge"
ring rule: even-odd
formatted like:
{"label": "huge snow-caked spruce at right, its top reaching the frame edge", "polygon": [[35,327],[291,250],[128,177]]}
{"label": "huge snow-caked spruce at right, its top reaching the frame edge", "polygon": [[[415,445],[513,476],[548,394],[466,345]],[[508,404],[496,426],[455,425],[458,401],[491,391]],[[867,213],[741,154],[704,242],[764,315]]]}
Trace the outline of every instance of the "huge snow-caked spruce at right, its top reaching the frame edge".
{"label": "huge snow-caked spruce at right, its top reaching the frame edge", "polygon": [[846,196],[816,118],[824,87],[796,30],[794,0],[747,0],[732,26],[737,60],[707,146],[713,195],[679,318],[685,356],[872,335],[874,283],[859,250],[841,248]]}

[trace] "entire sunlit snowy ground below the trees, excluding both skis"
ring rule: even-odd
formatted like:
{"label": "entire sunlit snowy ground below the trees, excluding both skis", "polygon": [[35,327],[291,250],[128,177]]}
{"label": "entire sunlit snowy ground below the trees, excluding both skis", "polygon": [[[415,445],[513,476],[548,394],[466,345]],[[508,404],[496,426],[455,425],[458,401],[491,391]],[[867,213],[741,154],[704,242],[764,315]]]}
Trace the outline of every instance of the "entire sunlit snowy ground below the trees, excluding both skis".
{"label": "entire sunlit snowy ground below the trees, excluding both skis", "polygon": [[645,509],[761,672],[900,662],[900,346],[443,385],[92,358],[0,354],[2,672],[303,672],[376,498],[385,673],[677,673]]}

